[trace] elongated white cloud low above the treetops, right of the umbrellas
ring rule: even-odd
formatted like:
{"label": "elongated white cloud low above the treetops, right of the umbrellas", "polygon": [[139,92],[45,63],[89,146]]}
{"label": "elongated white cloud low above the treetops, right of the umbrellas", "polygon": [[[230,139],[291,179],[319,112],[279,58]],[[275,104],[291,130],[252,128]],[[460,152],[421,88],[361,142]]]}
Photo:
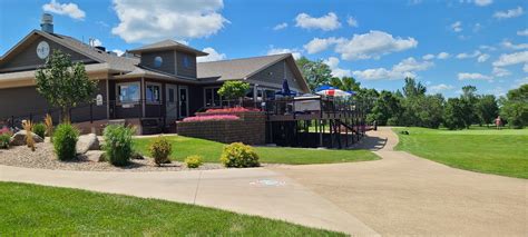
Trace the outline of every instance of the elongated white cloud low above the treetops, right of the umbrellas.
{"label": "elongated white cloud low above the treetops, right of the umbrellas", "polygon": [[391,69],[374,68],[366,69],[363,71],[353,71],[352,75],[363,80],[398,80],[405,77],[417,77],[417,71],[423,71],[434,66],[433,62],[422,61],[419,62],[414,58],[407,58],[400,61],[398,65],[392,66]]}

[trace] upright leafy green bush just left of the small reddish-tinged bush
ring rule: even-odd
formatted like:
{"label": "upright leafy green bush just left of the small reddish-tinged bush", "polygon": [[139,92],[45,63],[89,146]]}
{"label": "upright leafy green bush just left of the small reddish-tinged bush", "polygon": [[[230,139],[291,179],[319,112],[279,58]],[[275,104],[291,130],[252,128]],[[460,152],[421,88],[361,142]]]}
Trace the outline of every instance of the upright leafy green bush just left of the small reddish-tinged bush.
{"label": "upright leafy green bush just left of the small reddish-tinged bush", "polygon": [[114,166],[126,166],[134,152],[131,138],[134,129],[110,125],[105,128],[102,134],[105,136],[104,149],[108,161]]}

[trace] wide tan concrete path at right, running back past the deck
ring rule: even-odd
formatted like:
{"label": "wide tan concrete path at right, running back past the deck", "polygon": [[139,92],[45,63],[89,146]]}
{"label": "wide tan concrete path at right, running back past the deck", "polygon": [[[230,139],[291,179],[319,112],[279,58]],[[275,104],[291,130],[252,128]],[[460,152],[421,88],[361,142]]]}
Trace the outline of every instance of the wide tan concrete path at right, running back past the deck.
{"label": "wide tan concrete path at right, running back past the deck", "polygon": [[450,168],[393,151],[397,144],[398,136],[381,128],[360,145],[381,160],[273,170],[311,188],[381,235],[528,235],[528,180]]}

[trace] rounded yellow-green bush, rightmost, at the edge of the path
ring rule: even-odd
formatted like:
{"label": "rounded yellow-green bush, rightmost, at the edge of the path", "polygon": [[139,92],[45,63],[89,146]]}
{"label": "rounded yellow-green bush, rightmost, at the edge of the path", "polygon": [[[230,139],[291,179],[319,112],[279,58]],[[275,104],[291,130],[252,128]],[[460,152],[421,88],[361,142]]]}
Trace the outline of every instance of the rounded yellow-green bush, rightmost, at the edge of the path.
{"label": "rounded yellow-green bush, rightmost, at the edge of the path", "polygon": [[221,162],[225,167],[257,167],[258,155],[256,155],[253,147],[242,142],[234,142],[224,147],[221,156]]}

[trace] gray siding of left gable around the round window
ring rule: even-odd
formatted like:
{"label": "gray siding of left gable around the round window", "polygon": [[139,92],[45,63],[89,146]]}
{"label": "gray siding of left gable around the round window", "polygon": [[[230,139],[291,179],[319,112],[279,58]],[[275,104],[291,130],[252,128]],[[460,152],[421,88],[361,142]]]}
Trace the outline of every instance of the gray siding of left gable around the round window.
{"label": "gray siding of left gable around the round window", "polygon": [[37,56],[37,46],[39,45],[40,41],[45,40],[48,42],[50,47],[50,55],[52,53],[53,50],[61,50],[62,52],[66,52],[70,55],[71,60],[74,61],[86,61],[87,63],[89,62],[95,62],[92,59],[80,55],[78,52],[75,52],[59,43],[56,43],[55,41],[51,41],[49,39],[46,39],[43,37],[39,37],[35,42],[29,45],[23,51],[11,58],[10,60],[3,62],[0,65],[0,72],[8,72],[8,71],[20,71],[20,70],[32,70],[36,69],[45,63],[45,60],[40,59]]}

